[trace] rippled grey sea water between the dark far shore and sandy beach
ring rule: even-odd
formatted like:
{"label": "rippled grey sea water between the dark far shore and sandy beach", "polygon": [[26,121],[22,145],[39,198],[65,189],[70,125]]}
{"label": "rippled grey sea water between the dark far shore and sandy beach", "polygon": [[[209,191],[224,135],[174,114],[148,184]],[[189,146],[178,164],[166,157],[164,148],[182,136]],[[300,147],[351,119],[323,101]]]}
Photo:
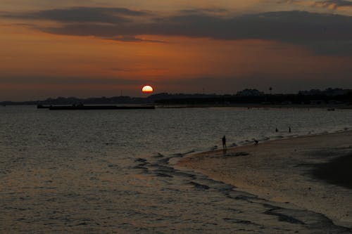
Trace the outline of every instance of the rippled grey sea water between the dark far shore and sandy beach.
{"label": "rippled grey sea water between the dark far shore and sandy beach", "polygon": [[1,107],[0,233],[341,233],[320,214],[172,165],[223,135],[241,145],[342,131],[351,119],[351,110]]}

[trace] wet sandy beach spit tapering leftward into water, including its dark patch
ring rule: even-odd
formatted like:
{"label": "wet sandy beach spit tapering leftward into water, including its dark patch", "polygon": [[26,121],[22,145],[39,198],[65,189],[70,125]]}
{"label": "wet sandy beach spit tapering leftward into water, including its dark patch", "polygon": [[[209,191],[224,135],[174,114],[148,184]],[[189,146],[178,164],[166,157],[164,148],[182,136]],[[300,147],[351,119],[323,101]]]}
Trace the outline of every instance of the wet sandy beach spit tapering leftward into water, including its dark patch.
{"label": "wet sandy beach spit tapering leftward into water, including its dark patch", "polygon": [[352,227],[352,131],[202,152],[177,165]]}

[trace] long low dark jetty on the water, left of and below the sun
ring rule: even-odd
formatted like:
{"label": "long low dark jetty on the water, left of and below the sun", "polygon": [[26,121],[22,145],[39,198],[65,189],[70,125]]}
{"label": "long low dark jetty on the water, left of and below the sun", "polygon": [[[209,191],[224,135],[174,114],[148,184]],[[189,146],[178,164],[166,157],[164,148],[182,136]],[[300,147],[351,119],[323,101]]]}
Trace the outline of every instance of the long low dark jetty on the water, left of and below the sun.
{"label": "long low dark jetty on the water, left of and below the sun", "polygon": [[138,110],[155,109],[154,105],[37,105],[38,109],[49,110]]}

